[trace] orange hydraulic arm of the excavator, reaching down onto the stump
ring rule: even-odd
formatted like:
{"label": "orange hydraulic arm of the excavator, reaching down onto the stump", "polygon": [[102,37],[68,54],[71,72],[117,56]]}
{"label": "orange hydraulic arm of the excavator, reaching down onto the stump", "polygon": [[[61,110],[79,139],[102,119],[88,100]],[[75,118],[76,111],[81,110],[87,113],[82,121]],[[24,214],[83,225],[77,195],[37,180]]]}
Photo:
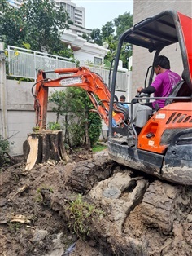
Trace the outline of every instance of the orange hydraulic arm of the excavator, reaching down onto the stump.
{"label": "orange hydraulic arm of the excavator, reaching down onto the stump", "polygon": [[[48,73],[57,73],[59,78],[50,79],[46,75]],[[109,102],[111,93],[103,81],[103,78],[98,73],[92,73],[88,68],[60,68],[54,71],[45,72],[42,70],[38,71],[37,82],[35,87],[35,98],[34,108],[36,111],[36,126],[39,130],[46,129],[46,115],[47,115],[47,103],[48,103],[48,89],[49,87],[68,87],[75,86],[81,87],[86,90],[89,95],[89,99],[94,104],[94,108],[99,116],[108,126],[108,113],[109,113]],[[97,97],[98,99],[97,99]],[[117,124],[124,126],[126,115],[124,109],[119,108],[118,104],[113,104],[113,118]]]}

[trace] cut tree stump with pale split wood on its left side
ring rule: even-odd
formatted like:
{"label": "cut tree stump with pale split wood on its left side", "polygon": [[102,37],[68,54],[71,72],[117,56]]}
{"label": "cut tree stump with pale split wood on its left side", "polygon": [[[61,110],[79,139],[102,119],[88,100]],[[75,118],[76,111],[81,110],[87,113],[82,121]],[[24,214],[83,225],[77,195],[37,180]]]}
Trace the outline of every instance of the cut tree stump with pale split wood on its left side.
{"label": "cut tree stump with pale split wood on its left side", "polygon": [[35,164],[48,160],[66,161],[69,157],[63,146],[62,130],[41,130],[28,134],[24,142],[25,170],[31,170]]}

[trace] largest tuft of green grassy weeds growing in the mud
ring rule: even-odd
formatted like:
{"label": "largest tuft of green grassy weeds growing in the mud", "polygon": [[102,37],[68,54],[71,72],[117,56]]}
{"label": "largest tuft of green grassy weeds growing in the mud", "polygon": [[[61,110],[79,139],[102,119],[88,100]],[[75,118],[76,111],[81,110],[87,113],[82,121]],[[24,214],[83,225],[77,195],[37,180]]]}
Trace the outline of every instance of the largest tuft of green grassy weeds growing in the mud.
{"label": "largest tuft of green grassy weeds growing in the mud", "polygon": [[95,208],[82,199],[82,195],[76,196],[76,200],[69,203],[69,217],[71,222],[69,227],[72,227],[73,232],[82,239],[89,235],[90,223],[94,222],[95,218],[101,218],[103,211]]}

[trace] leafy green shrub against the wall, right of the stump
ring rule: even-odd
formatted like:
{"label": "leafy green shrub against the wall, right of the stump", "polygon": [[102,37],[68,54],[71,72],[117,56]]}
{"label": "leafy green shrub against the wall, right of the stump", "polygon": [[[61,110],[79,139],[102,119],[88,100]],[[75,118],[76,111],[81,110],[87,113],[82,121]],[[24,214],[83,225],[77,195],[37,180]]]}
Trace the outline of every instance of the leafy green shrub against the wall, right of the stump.
{"label": "leafy green shrub against the wall, right of the stump", "polygon": [[49,102],[55,103],[52,110],[56,113],[56,123],[63,117],[64,141],[70,147],[85,145],[90,148],[98,141],[102,121],[97,113],[90,112],[94,105],[85,90],[74,87],[56,90]]}

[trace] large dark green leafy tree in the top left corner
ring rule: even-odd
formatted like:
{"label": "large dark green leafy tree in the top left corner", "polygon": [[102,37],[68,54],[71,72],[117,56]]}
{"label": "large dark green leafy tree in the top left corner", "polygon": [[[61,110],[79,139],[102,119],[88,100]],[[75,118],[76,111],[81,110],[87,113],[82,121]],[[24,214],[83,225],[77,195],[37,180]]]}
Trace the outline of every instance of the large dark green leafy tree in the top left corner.
{"label": "large dark green leafy tree in the top left corner", "polygon": [[[2,0],[1,34],[7,44],[23,46],[29,43],[36,51],[52,52],[61,44],[60,35],[68,27],[68,13],[56,10],[49,0],[25,0],[20,9],[7,7]],[[62,45],[61,45],[62,46]]]}

